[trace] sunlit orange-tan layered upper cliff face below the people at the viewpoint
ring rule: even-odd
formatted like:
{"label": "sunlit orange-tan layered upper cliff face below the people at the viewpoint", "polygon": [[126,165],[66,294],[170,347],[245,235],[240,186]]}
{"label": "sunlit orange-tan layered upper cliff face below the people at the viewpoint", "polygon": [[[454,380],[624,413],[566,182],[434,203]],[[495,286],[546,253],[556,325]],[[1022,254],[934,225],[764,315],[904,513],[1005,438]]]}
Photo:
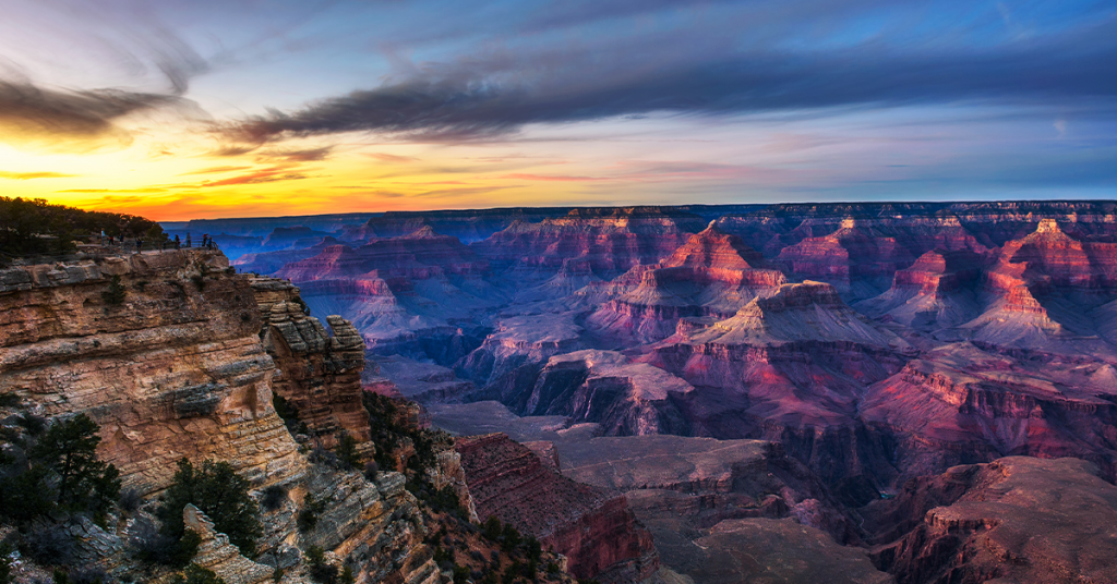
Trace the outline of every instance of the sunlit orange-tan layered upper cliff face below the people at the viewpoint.
{"label": "sunlit orange-tan layered upper cliff face below the people at the viewpoint", "polygon": [[[87,413],[98,454],[142,491],[183,457],[293,479],[305,462],[271,408],[256,297],[227,266],[183,250],[4,270],[0,386],[46,415]],[[120,304],[103,296],[113,277]]]}

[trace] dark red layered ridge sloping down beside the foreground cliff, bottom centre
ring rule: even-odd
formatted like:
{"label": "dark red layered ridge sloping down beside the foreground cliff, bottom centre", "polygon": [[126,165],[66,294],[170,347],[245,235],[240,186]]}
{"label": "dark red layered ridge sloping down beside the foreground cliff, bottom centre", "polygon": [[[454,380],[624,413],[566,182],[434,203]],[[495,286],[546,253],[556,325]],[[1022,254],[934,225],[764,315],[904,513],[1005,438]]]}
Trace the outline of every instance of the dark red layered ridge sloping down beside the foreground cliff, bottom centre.
{"label": "dark red layered ridge sloping down beside the foreground cliff, bottom centre", "polygon": [[579,577],[639,582],[658,567],[651,535],[624,496],[558,475],[506,434],[459,438],[455,448],[478,517],[496,516],[553,545]]}

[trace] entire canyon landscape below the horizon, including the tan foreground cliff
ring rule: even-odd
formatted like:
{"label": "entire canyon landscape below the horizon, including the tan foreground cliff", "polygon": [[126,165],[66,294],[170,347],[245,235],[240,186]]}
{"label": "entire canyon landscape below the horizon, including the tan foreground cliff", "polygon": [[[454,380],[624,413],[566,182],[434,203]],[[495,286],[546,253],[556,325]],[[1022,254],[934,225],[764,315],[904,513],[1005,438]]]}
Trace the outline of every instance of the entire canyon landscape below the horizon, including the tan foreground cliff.
{"label": "entire canyon landscape below the horizon, including the tan foreground cliff", "polygon": [[[90,415],[150,497],[182,457],[290,492],[244,562],[479,582],[513,562],[469,554],[493,517],[554,581],[1117,581],[1114,203],[269,221],[198,223],[244,253],[0,270],[3,392]],[[375,479],[322,462],[343,442]],[[259,572],[192,517],[203,564]]]}

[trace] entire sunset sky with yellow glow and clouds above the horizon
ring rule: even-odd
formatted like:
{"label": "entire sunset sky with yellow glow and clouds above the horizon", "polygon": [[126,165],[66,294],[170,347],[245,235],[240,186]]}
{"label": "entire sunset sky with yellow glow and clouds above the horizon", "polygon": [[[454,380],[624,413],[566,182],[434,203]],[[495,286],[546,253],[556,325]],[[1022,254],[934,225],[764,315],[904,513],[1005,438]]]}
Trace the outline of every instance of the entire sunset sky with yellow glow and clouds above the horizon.
{"label": "entire sunset sky with yellow glow and clouds above the horizon", "polygon": [[1113,0],[6,0],[0,195],[1117,199]]}

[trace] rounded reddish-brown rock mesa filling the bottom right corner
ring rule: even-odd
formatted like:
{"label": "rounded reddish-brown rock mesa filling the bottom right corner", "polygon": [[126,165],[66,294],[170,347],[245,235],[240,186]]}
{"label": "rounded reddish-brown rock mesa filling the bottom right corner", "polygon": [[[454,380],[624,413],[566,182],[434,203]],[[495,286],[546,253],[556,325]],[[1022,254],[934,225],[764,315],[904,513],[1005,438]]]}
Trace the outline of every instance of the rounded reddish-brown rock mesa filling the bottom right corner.
{"label": "rounded reddish-brown rock mesa filling the bottom right corner", "polygon": [[914,480],[870,507],[900,584],[1117,582],[1117,488],[1089,462],[1012,457]]}

